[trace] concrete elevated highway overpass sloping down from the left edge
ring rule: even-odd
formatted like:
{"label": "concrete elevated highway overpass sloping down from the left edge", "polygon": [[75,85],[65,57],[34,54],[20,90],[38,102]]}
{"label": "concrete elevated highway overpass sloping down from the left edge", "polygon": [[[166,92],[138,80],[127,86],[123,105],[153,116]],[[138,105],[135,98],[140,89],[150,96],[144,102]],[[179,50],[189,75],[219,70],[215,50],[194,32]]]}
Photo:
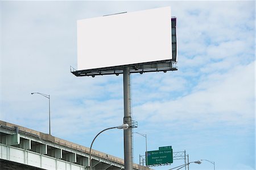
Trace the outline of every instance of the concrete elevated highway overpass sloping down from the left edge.
{"label": "concrete elevated highway overpass sloping down from the left edge", "polygon": [[[89,169],[90,148],[0,121],[0,169]],[[124,160],[92,150],[95,170],[125,169]],[[134,170],[150,168],[133,164]]]}

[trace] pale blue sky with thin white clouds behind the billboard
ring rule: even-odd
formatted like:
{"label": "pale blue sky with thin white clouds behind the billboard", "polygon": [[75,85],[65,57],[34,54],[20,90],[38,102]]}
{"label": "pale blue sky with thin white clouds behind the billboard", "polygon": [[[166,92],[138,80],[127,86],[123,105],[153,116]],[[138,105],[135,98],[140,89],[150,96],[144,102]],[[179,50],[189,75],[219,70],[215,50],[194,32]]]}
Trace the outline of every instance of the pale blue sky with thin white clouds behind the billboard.
{"label": "pale blue sky with thin white clouds behind the billboard", "polygon": [[[148,151],[172,146],[216,169],[255,169],[254,1],[1,1],[2,121],[90,146],[122,125],[123,76],[76,77],[76,22],[171,7],[177,18],[174,72],[131,74],[134,132]],[[145,138],[133,137],[134,163]],[[123,158],[123,131],[93,149]],[[170,169],[183,160],[153,169]],[[213,169],[191,164],[189,169]]]}

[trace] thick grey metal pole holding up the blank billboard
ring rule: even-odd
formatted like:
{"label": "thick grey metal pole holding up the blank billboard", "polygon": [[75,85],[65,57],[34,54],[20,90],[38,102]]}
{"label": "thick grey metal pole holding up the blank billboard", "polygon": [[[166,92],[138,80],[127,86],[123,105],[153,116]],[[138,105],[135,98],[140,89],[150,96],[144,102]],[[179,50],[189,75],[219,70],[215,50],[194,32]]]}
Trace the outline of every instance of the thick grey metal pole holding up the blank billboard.
{"label": "thick grey metal pole holding up the blank billboard", "polygon": [[123,131],[125,170],[133,169],[133,142],[131,125],[131,91],[130,91],[130,68],[123,69],[123,103],[124,117],[123,123],[127,123],[129,128]]}

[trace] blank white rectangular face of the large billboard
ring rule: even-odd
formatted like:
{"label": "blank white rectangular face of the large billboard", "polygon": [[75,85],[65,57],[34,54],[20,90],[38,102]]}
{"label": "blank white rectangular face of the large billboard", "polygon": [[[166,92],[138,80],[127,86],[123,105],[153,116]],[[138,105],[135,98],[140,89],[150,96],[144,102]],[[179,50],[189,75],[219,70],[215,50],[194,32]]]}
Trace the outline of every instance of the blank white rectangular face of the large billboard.
{"label": "blank white rectangular face of the large billboard", "polygon": [[170,59],[170,7],[77,20],[78,70]]}

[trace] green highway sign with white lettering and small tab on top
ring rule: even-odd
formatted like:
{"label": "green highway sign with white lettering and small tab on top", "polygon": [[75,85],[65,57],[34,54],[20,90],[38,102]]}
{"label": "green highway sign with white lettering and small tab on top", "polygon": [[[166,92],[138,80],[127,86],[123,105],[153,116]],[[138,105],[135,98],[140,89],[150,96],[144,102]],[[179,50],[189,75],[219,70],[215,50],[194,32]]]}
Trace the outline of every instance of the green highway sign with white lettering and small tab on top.
{"label": "green highway sign with white lettering and small tab on top", "polygon": [[[160,148],[160,147],[159,147]],[[172,148],[161,148],[158,151],[147,151],[147,165],[159,165],[173,163]]]}

